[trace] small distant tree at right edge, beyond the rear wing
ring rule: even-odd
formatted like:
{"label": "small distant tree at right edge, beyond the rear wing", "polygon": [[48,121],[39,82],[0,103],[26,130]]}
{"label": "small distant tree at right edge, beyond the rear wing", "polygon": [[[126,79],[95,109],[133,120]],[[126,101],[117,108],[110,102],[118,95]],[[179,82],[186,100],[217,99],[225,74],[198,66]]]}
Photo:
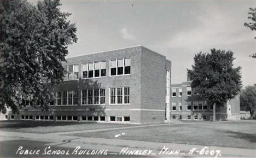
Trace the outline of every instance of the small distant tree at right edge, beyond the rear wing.
{"label": "small distant tree at right edge, beyond the rear wing", "polygon": [[241,110],[249,111],[253,119],[254,110],[256,109],[256,85],[246,86],[240,94]]}

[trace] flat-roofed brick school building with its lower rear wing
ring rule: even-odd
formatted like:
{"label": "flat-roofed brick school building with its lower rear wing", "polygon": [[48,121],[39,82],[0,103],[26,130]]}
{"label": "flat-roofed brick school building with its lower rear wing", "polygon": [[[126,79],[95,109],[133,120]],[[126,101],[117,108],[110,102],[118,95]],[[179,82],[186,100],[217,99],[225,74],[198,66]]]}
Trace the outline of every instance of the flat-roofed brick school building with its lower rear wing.
{"label": "flat-roofed brick school building with its lower rear wing", "polygon": [[[67,73],[49,111],[28,104],[19,115],[8,110],[2,119],[143,124],[212,117],[212,107],[193,97],[190,81],[171,85],[171,61],[143,46],[66,60]],[[237,96],[217,109],[217,119],[238,119],[239,110]]]}

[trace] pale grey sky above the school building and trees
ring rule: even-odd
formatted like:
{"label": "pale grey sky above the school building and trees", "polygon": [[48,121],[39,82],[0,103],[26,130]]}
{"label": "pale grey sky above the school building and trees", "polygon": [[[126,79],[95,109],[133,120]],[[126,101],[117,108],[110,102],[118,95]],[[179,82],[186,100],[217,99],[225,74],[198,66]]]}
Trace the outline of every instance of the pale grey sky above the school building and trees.
{"label": "pale grey sky above the school building and trees", "polygon": [[243,26],[256,1],[61,1],[77,26],[68,57],[143,45],[172,62],[172,84],[187,80],[194,55],[232,50],[242,84],[256,84],[256,31]]}

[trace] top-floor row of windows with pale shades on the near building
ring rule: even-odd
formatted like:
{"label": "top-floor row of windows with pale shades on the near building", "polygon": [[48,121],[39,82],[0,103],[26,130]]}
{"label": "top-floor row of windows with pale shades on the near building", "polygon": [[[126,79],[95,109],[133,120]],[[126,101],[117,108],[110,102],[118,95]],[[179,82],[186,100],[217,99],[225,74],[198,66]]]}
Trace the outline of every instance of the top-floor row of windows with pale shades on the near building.
{"label": "top-floor row of windows with pale shades on the near building", "polygon": [[[125,75],[131,73],[131,58],[121,58],[109,61],[109,76]],[[78,79],[78,65],[64,66],[64,80]],[[82,64],[82,78],[106,77],[106,61]]]}

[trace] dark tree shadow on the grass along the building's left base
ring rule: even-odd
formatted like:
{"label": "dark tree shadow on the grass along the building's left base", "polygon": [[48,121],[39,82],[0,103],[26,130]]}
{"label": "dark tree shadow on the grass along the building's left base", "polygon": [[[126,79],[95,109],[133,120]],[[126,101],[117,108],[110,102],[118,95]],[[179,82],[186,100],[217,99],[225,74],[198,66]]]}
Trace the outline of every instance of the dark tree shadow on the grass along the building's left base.
{"label": "dark tree shadow on the grass along the building's left base", "polygon": [[28,127],[53,127],[53,126],[67,126],[77,124],[95,124],[94,122],[55,122],[55,121],[0,121],[0,129],[4,128],[28,128]]}

